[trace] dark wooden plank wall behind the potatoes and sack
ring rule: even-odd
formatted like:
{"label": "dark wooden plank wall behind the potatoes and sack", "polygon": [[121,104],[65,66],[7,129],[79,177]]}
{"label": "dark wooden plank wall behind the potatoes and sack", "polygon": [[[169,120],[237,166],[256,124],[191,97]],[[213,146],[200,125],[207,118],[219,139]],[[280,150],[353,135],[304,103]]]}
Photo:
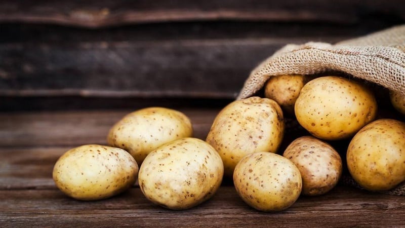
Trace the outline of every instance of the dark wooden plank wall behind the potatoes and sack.
{"label": "dark wooden plank wall behind the potatoes and sack", "polygon": [[367,34],[404,12],[400,0],[4,0],[0,110],[222,105],[280,47]]}

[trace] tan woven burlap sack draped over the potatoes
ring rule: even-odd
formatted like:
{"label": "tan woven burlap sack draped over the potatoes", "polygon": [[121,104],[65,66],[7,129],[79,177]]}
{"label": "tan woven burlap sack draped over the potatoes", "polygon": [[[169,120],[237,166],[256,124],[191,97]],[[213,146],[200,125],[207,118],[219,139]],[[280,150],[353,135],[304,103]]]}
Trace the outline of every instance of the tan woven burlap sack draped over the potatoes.
{"label": "tan woven burlap sack draped over the potatoes", "polygon": [[[405,25],[335,45],[309,42],[287,45],[250,73],[237,99],[254,95],[269,77],[339,71],[405,95]],[[351,178],[343,182],[359,187]],[[405,183],[384,193],[405,195]]]}

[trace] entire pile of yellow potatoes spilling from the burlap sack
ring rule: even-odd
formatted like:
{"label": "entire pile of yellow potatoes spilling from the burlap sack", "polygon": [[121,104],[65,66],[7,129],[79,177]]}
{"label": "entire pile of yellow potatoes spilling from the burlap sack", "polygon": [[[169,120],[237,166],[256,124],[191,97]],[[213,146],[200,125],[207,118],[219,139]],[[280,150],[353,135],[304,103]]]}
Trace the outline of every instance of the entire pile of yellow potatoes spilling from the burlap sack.
{"label": "entire pile of yellow potatoes spilling from the burlap sack", "polygon": [[[391,102],[405,115],[403,96],[391,93]],[[307,134],[279,151],[285,116]],[[140,109],[111,128],[109,146],[67,151],[53,178],[62,192],[79,200],[114,196],[138,180],[151,202],[180,210],[210,199],[225,177],[253,208],[280,211],[300,195],[318,196],[336,186],[344,164],[330,142],[350,140],[347,167],[360,186],[382,191],[405,180],[405,123],[378,118],[372,90],[352,79],[271,77],[263,97],[224,107],[206,141],[192,132],[182,112]]]}

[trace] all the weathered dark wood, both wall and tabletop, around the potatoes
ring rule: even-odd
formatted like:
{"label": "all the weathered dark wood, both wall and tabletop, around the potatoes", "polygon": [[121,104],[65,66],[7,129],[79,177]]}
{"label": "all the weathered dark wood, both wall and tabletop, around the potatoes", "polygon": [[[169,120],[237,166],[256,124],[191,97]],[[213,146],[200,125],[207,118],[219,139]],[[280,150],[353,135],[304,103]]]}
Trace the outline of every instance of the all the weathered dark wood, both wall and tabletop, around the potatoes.
{"label": "all the weathered dark wood, both wall and tabletop, around the potatoes", "polygon": [[205,139],[277,49],[403,24],[404,12],[403,0],[0,1],[0,226],[405,225],[405,198],[341,185],[269,214],[242,202],[229,180],[203,205],[171,211],[136,186],[75,201],[51,177],[67,149],[105,144],[113,123],[141,107],[184,111]]}

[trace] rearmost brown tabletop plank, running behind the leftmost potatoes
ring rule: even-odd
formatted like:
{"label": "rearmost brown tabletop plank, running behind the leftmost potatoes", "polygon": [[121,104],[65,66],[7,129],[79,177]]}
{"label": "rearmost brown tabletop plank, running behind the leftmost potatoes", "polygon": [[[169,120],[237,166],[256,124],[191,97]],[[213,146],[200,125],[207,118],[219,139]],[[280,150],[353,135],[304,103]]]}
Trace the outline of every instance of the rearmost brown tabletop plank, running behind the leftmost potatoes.
{"label": "rearmost brown tabletop plank, running behind the leftmost potatoes", "polygon": [[[179,109],[187,115],[194,137],[208,134],[219,108]],[[132,110],[0,113],[0,146],[73,146],[105,144],[109,129]],[[41,149],[41,148],[39,148]]]}

